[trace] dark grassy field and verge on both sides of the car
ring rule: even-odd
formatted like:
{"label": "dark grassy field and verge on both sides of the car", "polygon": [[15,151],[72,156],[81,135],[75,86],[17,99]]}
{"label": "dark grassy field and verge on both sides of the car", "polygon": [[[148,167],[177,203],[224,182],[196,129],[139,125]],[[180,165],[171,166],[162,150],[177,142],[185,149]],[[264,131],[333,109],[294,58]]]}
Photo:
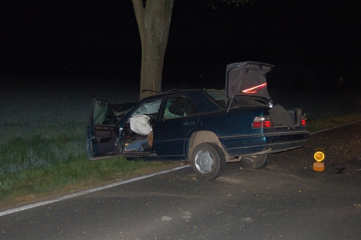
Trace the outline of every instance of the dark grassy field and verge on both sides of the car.
{"label": "dark grassy field and verge on both sides of the car", "polygon": [[[174,167],[124,158],[88,162],[85,129],[92,97],[114,102],[119,94],[52,86],[39,92],[41,86],[21,85],[0,93],[0,209]],[[136,101],[133,92],[121,100]],[[361,119],[357,93],[270,91],[270,96],[285,108],[303,106],[311,132]]]}

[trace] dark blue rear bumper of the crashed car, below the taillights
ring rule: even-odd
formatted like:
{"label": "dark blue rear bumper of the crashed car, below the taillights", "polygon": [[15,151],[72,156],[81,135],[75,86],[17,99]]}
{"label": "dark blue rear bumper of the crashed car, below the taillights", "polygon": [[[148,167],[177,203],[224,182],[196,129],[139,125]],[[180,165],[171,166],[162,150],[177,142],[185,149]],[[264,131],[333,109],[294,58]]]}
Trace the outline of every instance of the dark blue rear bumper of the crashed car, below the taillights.
{"label": "dark blue rear bumper of the crashed car, below the taillights", "polygon": [[310,139],[308,131],[292,131],[289,133],[269,133],[220,138],[229,156],[258,155],[282,152],[303,147]]}

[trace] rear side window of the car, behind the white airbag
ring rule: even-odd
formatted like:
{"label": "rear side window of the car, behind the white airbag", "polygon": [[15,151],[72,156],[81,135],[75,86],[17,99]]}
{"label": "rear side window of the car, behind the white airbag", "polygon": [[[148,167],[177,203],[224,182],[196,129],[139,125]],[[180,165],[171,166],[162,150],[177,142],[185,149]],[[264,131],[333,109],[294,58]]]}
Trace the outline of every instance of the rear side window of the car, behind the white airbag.
{"label": "rear side window of the car, behind the white airbag", "polygon": [[198,114],[187,96],[165,98],[161,119],[179,118]]}

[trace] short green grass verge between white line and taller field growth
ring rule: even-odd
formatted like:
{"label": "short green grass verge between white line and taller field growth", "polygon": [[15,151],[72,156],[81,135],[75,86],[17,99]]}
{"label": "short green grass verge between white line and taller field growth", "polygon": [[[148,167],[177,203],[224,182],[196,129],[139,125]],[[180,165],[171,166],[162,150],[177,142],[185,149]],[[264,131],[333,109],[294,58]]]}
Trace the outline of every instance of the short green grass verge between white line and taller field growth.
{"label": "short green grass verge between white line and taller field growth", "polygon": [[88,162],[85,155],[0,175],[0,208],[71,193],[172,167],[125,158]]}

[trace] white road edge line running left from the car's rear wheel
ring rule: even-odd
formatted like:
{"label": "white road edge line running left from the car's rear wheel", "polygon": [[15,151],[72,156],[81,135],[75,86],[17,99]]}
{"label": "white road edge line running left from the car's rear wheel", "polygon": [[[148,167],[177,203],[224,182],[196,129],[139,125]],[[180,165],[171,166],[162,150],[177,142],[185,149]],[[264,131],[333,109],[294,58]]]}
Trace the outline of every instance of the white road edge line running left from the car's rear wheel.
{"label": "white road edge line running left from the car's rear wheel", "polygon": [[84,190],[84,191],[81,191],[81,192],[78,192],[78,193],[69,194],[69,195],[66,195],[66,196],[63,196],[63,197],[54,198],[54,199],[49,200],[49,201],[43,201],[43,202],[38,202],[38,203],[34,203],[34,204],[29,204],[29,205],[22,206],[22,207],[13,208],[13,209],[10,209],[10,210],[0,212],[0,217],[4,216],[4,215],[8,215],[8,214],[13,214],[14,212],[26,210],[26,209],[33,208],[33,207],[42,206],[42,205],[45,205],[45,204],[65,200],[65,199],[68,199],[68,198],[73,198],[73,197],[80,196],[80,195],[87,194],[87,193],[93,193],[93,192],[96,192],[96,191],[99,191],[99,190],[112,188],[113,186],[122,185],[122,184],[125,184],[125,183],[128,183],[128,182],[137,181],[137,180],[147,178],[147,177],[153,177],[153,176],[156,176],[156,175],[172,172],[172,171],[182,169],[182,168],[187,168],[187,167],[190,167],[190,166],[191,165],[184,165],[184,166],[181,166],[181,167],[167,169],[167,170],[163,170],[163,171],[160,171],[160,172],[151,173],[151,174],[148,174],[148,175],[144,175],[144,176],[140,176],[140,177],[134,177],[134,178],[131,178],[131,179],[128,179],[128,180],[114,182],[114,183],[110,183],[110,184],[107,184],[107,185],[104,185],[104,186],[99,186],[98,188],[88,189],[88,190]]}

